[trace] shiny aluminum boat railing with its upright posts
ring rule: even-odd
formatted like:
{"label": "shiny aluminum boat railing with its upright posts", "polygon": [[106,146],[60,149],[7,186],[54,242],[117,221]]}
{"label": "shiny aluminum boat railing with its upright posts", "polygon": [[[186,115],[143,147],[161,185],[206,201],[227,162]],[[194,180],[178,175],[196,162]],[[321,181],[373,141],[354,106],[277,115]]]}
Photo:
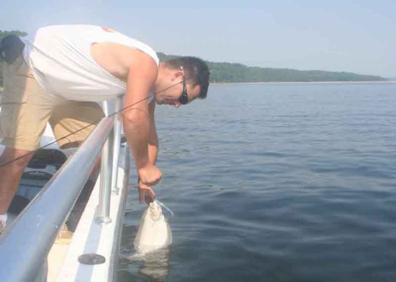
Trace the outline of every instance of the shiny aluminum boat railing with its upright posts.
{"label": "shiny aluminum boat railing with its upright posts", "polygon": [[[122,97],[116,98],[115,111]],[[104,107],[108,116],[107,105]],[[98,224],[111,222],[111,192],[117,193],[120,114],[103,118],[35,199],[0,236],[0,281],[34,281],[101,153]],[[113,175],[113,177],[112,177]]]}

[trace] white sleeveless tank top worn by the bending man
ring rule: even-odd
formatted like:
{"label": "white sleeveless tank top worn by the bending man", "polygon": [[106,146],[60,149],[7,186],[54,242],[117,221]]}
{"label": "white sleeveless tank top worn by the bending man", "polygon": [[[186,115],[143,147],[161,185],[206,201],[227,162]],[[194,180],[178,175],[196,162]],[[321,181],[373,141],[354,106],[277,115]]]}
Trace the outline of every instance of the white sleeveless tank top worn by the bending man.
{"label": "white sleeveless tank top worn by the bending man", "polygon": [[49,94],[68,100],[99,102],[126,92],[126,83],[93,59],[91,45],[95,42],[130,46],[147,53],[157,66],[159,62],[145,43],[98,26],[47,26],[36,32],[33,42],[22,40],[25,60],[36,80]]}

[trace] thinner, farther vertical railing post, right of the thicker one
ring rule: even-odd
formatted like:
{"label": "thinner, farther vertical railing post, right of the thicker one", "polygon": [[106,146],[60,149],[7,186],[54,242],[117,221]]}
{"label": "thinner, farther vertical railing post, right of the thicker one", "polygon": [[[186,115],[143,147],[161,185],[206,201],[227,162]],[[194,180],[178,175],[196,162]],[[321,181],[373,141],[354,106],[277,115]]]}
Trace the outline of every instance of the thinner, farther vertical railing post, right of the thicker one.
{"label": "thinner, farther vertical railing post, right of the thicker one", "polygon": [[118,161],[120,156],[120,145],[121,145],[121,111],[122,109],[123,96],[115,98],[115,109],[117,113],[114,116],[114,146],[113,146],[113,166],[111,173],[111,192],[118,195],[119,188],[117,187],[118,179]]}

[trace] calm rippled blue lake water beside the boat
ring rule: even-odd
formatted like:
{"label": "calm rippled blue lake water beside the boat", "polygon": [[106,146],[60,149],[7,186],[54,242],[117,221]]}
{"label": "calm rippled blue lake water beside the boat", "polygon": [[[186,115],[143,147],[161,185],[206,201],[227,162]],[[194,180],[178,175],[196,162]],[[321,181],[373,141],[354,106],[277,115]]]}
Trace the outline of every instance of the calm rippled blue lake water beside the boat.
{"label": "calm rippled blue lake water beside the boat", "polygon": [[174,242],[128,259],[133,168],[118,282],[396,281],[395,109],[396,83],[211,85],[157,107]]}

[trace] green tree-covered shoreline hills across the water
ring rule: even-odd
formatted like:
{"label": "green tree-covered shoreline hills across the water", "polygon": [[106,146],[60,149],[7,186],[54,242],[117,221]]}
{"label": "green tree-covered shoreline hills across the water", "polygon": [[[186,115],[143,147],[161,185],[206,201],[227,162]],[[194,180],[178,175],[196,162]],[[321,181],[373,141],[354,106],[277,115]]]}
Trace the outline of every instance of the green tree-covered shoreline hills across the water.
{"label": "green tree-covered shoreline hills across the water", "polygon": [[[20,31],[1,31],[1,38],[14,34],[26,36]],[[158,52],[160,61],[180,56]],[[330,82],[330,81],[388,81],[380,76],[359,75],[348,72],[299,71],[249,67],[239,63],[215,63],[206,61],[210,71],[211,83],[251,83],[251,82]],[[2,62],[0,60],[0,86],[2,86]]]}

